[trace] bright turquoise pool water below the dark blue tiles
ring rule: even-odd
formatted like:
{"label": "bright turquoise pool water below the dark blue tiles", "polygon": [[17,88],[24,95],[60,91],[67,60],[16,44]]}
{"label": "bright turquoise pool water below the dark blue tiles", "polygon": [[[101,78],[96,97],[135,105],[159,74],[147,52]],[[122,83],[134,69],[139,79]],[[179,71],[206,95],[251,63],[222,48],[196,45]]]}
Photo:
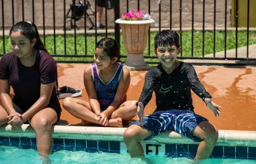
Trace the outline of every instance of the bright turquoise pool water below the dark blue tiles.
{"label": "bright turquoise pool water below the dark blue tiles", "polygon": [[[125,154],[116,154],[116,153],[105,153],[105,152],[86,152],[86,151],[56,151],[50,155],[51,163],[90,163],[90,164],[112,164],[112,163],[131,163],[131,164],[140,164],[145,163],[141,159],[131,158]],[[168,157],[149,157],[151,163],[190,163],[191,162],[185,158],[168,158]],[[39,156],[38,152],[35,149],[22,149],[16,148],[13,146],[0,146],[0,163],[8,164],[34,164],[42,163],[42,159]],[[246,159],[209,159],[202,160],[200,163],[256,163],[256,160],[246,160]]]}

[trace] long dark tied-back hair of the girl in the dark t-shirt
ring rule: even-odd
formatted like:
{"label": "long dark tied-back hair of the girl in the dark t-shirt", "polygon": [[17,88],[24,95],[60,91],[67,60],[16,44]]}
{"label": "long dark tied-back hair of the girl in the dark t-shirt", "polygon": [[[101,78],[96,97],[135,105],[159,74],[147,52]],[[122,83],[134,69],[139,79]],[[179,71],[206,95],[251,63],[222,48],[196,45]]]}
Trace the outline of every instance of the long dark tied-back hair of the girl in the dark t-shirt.
{"label": "long dark tied-back hair of the girl in the dark t-shirt", "polygon": [[[37,30],[36,24],[33,22],[27,22],[27,21],[19,21],[18,23],[14,24],[12,28],[10,28],[10,35],[13,32],[18,32],[24,35],[26,38],[30,40],[30,44],[33,41],[33,38],[36,38],[36,44],[33,46],[34,49],[39,49],[47,52],[45,49],[45,45],[42,43],[39,32]],[[48,52],[47,52],[48,53]],[[58,84],[58,70],[56,74],[56,90],[57,95],[59,97],[58,92],[59,84]]]}

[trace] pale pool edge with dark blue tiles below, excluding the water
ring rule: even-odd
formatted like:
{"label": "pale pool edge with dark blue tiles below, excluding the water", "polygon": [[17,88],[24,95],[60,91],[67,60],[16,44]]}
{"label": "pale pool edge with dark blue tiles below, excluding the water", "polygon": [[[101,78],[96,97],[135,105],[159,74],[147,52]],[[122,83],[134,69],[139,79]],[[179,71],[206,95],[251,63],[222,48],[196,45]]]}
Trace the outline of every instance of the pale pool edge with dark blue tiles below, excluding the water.
{"label": "pale pool edge with dark blue tiles below, excluding the water", "polygon": [[[125,128],[106,128],[88,126],[53,126],[53,152],[60,150],[121,153]],[[22,129],[11,126],[0,127],[0,146],[36,149],[33,129],[23,125]],[[198,143],[167,131],[143,141],[149,146],[162,144],[167,157],[194,157]],[[256,131],[219,131],[217,145],[211,154],[214,158],[256,159]]]}

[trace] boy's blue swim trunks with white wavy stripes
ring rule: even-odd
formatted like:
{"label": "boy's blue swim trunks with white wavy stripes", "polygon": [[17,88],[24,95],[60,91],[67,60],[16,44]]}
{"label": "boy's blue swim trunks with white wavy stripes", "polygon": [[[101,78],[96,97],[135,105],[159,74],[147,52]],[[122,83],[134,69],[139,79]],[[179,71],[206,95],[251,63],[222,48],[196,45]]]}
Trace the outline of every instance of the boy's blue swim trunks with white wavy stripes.
{"label": "boy's blue swim trunks with white wavy stripes", "polygon": [[199,137],[191,134],[199,123],[208,121],[205,117],[195,114],[190,110],[171,109],[166,111],[157,111],[152,115],[147,115],[143,118],[144,123],[141,125],[139,121],[134,122],[134,125],[142,126],[153,134],[145,140],[151,140],[154,136],[164,131],[175,131],[185,137],[194,140],[195,142],[202,141]]}

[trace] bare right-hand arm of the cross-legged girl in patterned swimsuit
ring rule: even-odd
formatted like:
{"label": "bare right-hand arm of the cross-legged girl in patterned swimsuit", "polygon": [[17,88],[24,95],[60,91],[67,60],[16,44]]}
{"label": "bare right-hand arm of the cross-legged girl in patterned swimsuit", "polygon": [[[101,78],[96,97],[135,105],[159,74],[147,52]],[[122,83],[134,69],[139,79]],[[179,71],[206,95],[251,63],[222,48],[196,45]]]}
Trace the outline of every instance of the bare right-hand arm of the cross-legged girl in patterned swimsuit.
{"label": "bare right-hand arm of the cross-legged girl in patterned swimsuit", "polygon": [[130,72],[128,71],[128,69],[126,67],[124,67],[122,69],[122,73],[121,73],[121,76],[119,79],[119,85],[116,90],[116,95],[115,95],[114,101],[113,101],[113,103],[111,103],[110,106],[108,106],[108,108],[104,112],[102,112],[104,115],[106,115],[108,117],[116,109],[119,108],[119,106],[122,103],[122,100],[125,98],[125,95],[128,91],[130,82],[131,82]]}

